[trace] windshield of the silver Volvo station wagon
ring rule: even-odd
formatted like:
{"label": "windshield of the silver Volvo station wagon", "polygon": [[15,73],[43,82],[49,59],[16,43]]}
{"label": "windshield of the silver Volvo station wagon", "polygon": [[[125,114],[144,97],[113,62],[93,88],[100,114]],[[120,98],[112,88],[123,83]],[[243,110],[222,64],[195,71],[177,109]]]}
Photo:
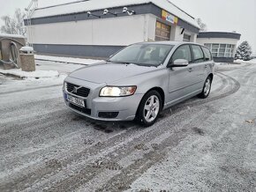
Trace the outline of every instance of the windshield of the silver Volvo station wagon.
{"label": "windshield of the silver Volvo station wagon", "polygon": [[119,51],[108,61],[112,63],[158,66],[164,62],[173,47],[173,45],[165,44],[134,44]]}

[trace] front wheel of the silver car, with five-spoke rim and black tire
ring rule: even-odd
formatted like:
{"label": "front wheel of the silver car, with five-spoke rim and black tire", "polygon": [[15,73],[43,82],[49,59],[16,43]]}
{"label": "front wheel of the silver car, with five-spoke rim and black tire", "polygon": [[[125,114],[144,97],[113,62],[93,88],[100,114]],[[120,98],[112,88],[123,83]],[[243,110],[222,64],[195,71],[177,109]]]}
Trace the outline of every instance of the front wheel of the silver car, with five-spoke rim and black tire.
{"label": "front wheel of the silver car, with five-spoke rim and black tire", "polygon": [[142,98],[136,115],[139,124],[149,127],[156,122],[162,110],[162,98],[159,92],[150,91]]}

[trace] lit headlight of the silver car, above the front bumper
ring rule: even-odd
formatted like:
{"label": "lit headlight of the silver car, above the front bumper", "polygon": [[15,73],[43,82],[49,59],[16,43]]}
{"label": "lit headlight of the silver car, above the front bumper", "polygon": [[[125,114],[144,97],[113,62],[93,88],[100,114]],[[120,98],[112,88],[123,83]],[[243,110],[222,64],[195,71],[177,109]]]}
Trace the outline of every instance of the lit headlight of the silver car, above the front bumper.
{"label": "lit headlight of the silver car, above the front bumper", "polygon": [[100,92],[100,97],[124,97],[134,94],[137,86],[105,86]]}

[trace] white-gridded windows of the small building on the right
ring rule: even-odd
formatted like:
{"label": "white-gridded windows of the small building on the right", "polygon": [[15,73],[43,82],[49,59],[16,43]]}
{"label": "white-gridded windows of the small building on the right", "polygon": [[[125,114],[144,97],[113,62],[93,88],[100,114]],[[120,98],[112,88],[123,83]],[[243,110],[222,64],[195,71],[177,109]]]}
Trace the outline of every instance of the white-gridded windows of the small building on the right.
{"label": "white-gridded windows of the small building on the right", "polygon": [[236,45],[205,43],[205,46],[212,51],[214,57],[233,57]]}

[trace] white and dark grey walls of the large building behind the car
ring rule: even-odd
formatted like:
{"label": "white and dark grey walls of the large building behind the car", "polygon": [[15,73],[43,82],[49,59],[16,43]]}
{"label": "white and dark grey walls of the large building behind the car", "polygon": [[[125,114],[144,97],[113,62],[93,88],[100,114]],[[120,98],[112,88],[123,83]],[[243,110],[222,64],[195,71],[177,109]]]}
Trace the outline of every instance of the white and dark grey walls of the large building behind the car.
{"label": "white and dark grey walls of the large building behind the car", "polygon": [[[156,20],[171,26],[170,41],[183,41],[184,33],[196,33],[172,25],[154,14],[86,19],[38,24],[29,27],[28,41],[41,54],[108,57],[124,46],[154,41]],[[192,38],[195,41],[195,38]]]}

